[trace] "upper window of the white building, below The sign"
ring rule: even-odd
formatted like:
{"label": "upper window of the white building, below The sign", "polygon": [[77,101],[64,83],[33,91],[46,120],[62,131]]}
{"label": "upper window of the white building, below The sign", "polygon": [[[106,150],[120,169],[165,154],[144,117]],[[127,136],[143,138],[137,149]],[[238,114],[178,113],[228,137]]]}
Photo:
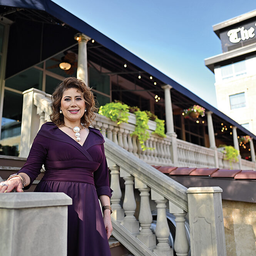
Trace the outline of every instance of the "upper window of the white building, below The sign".
{"label": "upper window of the white building, below The sign", "polygon": [[221,67],[222,80],[246,75],[245,60]]}

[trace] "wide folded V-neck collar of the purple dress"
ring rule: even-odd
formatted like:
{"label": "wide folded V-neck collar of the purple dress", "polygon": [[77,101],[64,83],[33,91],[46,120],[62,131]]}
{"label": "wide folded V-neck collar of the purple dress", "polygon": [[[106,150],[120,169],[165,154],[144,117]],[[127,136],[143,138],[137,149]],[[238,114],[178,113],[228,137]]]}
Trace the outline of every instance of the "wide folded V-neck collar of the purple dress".
{"label": "wide folded V-neck collar of the purple dress", "polygon": [[86,156],[89,159],[89,161],[93,161],[92,157],[87,152],[87,149],[97,144],[103,144],[105,141],[98,129],[95,129],[92,127],[88,127],[88,128],[89,128],[89,134],[85,139],[83,146],[80,145],[74,139],[72,139],[65,132],[61,131],[59,127],[57,127],[57,125],[55,125],[53,122],[46,122],[45,124],[43,124],[41,129],[38,131],[38,134],[44,137],[47,137],[49,139],[54,139],[60,142],[66,142],[74,146],[75,148],[77,148],[80,152],[82,152],[82,154],[84,154],[84,156]]}

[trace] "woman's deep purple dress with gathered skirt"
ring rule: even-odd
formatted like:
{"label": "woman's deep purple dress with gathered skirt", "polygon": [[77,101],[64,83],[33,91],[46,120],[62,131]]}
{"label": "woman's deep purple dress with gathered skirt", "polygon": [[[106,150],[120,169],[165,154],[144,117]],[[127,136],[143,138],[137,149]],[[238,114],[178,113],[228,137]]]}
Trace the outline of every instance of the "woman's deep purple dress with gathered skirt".
{"label": "woman's deep purple dress with gathered skirt", "polygon": [[111,197],[112,192],[104,139],[99,130],[89,130],[81,146],[53,122],[43,124],[19,172],[25,172],[32,184],[44,164],[45,174],[35,191],[64,192],[72,198],[73,204],[68,206],[68,256],[111,256],[98,200],[100,195]]}

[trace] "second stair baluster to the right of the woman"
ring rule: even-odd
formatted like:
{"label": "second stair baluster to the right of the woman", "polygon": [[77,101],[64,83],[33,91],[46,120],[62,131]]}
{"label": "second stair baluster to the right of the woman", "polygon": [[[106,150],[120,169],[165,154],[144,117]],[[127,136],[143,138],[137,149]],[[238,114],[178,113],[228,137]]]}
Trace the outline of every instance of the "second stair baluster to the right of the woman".
{"label": "second stair baluster to the right of the woman", "polygon": [[136,201],[134,197],[134,177],[123,169],[120,169],[120,177],[123,177],[125,182],[124,193],[124,213],[125,217],[121,224],[128,229],[132,234],[139,233],[139,221],[136,220],[134,213],[136,209]]}

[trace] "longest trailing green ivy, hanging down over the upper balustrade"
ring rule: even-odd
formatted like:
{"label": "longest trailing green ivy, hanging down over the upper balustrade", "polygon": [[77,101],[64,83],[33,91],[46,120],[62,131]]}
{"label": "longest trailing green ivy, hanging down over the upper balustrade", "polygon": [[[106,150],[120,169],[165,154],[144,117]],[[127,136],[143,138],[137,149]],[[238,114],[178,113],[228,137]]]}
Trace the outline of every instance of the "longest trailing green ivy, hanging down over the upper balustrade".
{"label": "longest trailing green ivy, hanging down over the upper balustrade", "polygon": [[152,149],[151,147],[146,147],[144,142],[149,139],[149,125],[147,124],[149,121],[149,117],[145,111],[138,110],[134,112],[136,115],[136,125],[135,130],[131,134],[131,136],[136,135],[138,137],[139,143],[141,144],[142,151],[146,149]]}

